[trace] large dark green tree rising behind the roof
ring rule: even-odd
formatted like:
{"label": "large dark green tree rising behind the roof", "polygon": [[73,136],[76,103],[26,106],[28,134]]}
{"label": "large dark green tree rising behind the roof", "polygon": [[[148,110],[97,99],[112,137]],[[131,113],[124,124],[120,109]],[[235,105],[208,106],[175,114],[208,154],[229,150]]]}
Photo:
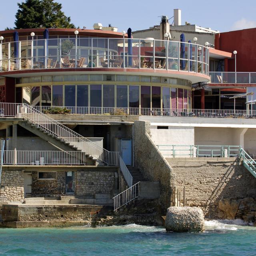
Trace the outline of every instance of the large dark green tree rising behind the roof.
{"label": "large dark green tree rising behind the roof", "polygon": [[54,0],[26,0],[18,3],[14,22],[19,28],[75,28],[70,17],[61,11],[62,4]]}

